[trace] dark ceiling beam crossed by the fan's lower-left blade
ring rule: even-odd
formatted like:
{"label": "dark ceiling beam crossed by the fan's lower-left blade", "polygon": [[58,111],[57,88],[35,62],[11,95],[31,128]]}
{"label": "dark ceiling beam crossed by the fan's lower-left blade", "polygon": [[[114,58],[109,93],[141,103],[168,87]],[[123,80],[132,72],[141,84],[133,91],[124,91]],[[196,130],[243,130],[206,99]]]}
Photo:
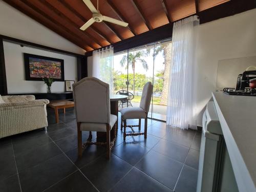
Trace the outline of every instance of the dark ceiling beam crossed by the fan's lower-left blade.
{"label": "dark ceiling beam crossed by the fan's lower-left blade", "polygon": [[[82,22],[86,23],[88,19],[84,18],[80,13],[78,13],[72,6],[70,6],[68,3],[66,3],[64,0],[58,0],[63,6],[65,6],[69,11],[74,13]],[[90,28],[97,33],[101,38],[105,39],[109,43],[113,44],[114,41],[112,41],[109,37],[101,33],[97,28],[90,26]]]}

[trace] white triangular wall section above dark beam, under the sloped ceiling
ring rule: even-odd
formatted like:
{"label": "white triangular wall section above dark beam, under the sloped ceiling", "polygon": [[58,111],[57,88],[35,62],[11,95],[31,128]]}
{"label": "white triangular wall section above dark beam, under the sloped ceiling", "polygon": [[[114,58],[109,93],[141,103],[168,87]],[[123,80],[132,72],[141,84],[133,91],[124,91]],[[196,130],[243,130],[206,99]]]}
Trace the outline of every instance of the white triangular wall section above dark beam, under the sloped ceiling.
{"label": "white triangular wall section above dark beam, under the sloped ceiling", "polygon": [[0,0],[0,34],[83,54],[85,51]]}

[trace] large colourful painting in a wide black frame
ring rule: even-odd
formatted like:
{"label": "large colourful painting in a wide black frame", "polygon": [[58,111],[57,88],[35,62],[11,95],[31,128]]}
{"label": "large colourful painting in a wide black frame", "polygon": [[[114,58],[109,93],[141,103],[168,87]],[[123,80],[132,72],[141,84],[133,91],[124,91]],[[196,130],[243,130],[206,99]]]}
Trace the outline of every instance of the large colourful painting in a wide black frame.
{"label": "large colourful painting in a wide black frame", "polygon": [[42,81],[42,78],[53,78],[64,81],[64,60],[24,53],[26,80]]}

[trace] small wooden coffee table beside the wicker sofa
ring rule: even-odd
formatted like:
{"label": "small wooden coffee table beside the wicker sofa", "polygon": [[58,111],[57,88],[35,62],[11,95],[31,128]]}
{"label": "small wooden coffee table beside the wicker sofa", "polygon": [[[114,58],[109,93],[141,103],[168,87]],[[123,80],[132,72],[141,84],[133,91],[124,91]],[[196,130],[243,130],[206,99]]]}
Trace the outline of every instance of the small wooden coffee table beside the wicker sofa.
{"label": "small wooden coffee table beside the wicker sofa", "polygon": [[65,100],[65,99],[64,100],[52,100],[52,101],[50,101],[48,106],[50,106],[50,108],[54,109],[56,123],[59,123],[58,109],[63,109],[63,113],[66,113],[66,108],[73,108],[74,102]]}

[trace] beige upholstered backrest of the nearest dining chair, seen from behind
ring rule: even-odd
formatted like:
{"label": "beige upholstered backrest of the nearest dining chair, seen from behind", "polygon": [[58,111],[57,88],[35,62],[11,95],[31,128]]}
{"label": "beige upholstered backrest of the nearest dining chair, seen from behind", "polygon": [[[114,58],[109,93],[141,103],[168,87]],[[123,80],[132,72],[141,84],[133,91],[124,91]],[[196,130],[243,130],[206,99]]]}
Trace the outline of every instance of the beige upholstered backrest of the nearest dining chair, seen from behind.
{"label": "beige upholstered backrest of the nearest dining chair, seen from behind", "polygon": [[95,77],[73,84],[77,122],[110,123],[110,86]]}

